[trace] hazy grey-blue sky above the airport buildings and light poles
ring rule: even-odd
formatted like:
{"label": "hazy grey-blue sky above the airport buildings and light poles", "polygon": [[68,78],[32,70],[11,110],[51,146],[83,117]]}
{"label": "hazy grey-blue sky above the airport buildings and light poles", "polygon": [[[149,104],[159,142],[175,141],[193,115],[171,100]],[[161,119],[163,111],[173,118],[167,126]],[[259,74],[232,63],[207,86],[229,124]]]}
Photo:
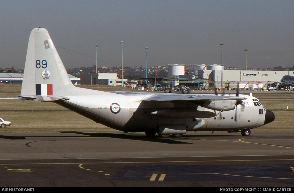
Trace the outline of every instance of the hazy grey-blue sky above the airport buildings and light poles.
{"label": "hazy grey-blue sky above the airport buildings and light poles", "polygon": [[[0,0],[0,66],[24,68],[33,28],[49,31],[67,68],[294,65],[294,1]],[[61,47],[61,48],[60,48]],[[65,49],[62,49],[65,48]],[[70,50],[70,51],[69,51]]]}

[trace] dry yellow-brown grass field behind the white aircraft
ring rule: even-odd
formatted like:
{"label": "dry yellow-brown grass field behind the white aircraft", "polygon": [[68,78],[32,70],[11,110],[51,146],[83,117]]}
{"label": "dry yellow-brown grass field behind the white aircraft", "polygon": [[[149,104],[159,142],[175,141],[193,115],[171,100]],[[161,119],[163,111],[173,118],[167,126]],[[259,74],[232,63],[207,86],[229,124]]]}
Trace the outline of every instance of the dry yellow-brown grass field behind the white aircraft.
{"label": "dry yellow-brown grass field behind the white aircraft", "polygon": [[[102,91],[134,91],[119,86],[79,85],[88,89]],[[16,97],[20,95],[20,84],[0,84],[0,97]],[[256,129],[253,132],[293,132],[294,100],[285,102],[280,98],[294,98],[294,92],[253,93],[257,98],[277,98],[278,100],[260,100],[264,107],[275,114],[275,121]],[[101,124],[97,124],[77,113],[71,112],[54,103],[21,100],[0,100],[0,117],[10,121],[11,126],[0,129],[0,133],[56,133],[85,132],[106,133],[119,132]],[[288,110],[287,110],[288,106]],[[293,106],[293,111],[291,111]]]}

